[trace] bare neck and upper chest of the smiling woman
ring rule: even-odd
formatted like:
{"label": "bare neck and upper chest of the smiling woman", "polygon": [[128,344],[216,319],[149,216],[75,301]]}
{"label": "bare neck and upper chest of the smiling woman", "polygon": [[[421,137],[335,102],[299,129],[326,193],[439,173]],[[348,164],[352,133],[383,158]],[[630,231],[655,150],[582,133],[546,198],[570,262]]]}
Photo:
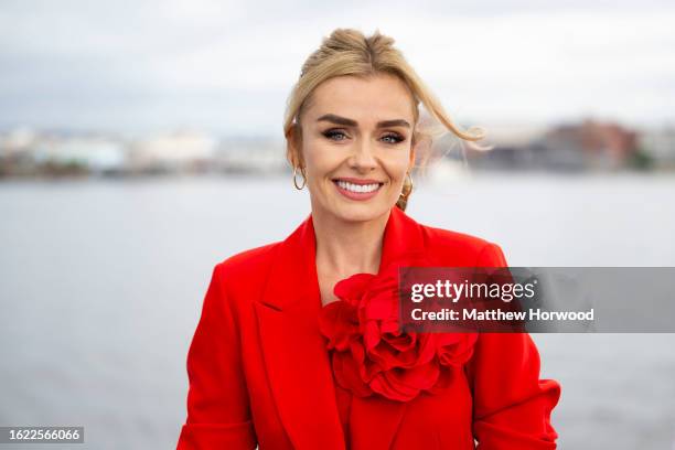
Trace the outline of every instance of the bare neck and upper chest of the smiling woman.
{"label": "bare neck and upper chest of the smiling woman", "polygon": [[312,213],[317,238],[317,267],[340,277],[377,274],[389,212],[366,222],[346,222]]}

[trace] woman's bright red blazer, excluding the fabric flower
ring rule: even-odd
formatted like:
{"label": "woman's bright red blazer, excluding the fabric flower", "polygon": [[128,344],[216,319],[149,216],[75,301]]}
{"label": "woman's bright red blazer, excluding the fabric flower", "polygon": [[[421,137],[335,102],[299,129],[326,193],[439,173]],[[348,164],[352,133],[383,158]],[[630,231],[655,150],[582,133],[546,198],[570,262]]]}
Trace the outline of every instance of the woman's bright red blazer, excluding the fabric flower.
{"label": "woman's bright red blazer, excluding the fabric flower", "polygon": [[[282,242],[215,266],[188,354],[188,449],[555,449],[560,386],[539,379],[528,334],[482,333],[449,394],[353,398],[345,442],[325,342],[311,215]],[[381,267],[422,253],[436,266],[502,267],[501,248],[418,224],[398,207]]]}

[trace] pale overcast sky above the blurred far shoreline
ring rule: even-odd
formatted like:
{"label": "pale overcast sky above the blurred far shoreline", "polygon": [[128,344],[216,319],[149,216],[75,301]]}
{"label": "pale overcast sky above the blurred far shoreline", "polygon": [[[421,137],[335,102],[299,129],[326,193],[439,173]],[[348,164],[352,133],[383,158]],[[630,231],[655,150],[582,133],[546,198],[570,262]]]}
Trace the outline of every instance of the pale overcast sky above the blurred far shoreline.
{"label": "pale overcast sky above the blurred far shoreline", "polygon": [[673,23],[649,0],[2,0],[0,129],[282,137],[335,28],[394,38],[463,126],[672,125]]}

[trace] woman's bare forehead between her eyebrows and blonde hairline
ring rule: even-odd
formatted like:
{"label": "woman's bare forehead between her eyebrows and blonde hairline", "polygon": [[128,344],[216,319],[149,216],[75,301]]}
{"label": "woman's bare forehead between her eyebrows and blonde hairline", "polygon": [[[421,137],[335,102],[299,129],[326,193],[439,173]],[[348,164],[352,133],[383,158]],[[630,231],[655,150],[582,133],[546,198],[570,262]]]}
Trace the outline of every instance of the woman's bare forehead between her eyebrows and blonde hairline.
{"label": "woman's bare forehead between her eyebrows and blonde hairline", "polygon": [[326,79],[314,89],[306,117],[313,121],[330,113],[360,124],[399,118],[413,122],[413,107],[410,90],[394,75],[345,75]]}

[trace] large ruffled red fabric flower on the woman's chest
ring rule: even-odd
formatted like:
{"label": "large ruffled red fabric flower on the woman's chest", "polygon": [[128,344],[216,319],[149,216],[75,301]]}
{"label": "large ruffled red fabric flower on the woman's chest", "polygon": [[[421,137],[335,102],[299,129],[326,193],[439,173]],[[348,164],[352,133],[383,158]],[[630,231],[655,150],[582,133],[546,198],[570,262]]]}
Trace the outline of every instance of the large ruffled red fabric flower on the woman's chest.
{"label": "large ruffled red fabric flower on the woman's chest", "polygon": [[392,264],[378,275],[341,280],[334,288],[340,300],[321,309],[319,329],[335,379],[356,396],[408,401],[441,392],[473,354],[475,333],[398,332],[398,268],[411,266]]}

